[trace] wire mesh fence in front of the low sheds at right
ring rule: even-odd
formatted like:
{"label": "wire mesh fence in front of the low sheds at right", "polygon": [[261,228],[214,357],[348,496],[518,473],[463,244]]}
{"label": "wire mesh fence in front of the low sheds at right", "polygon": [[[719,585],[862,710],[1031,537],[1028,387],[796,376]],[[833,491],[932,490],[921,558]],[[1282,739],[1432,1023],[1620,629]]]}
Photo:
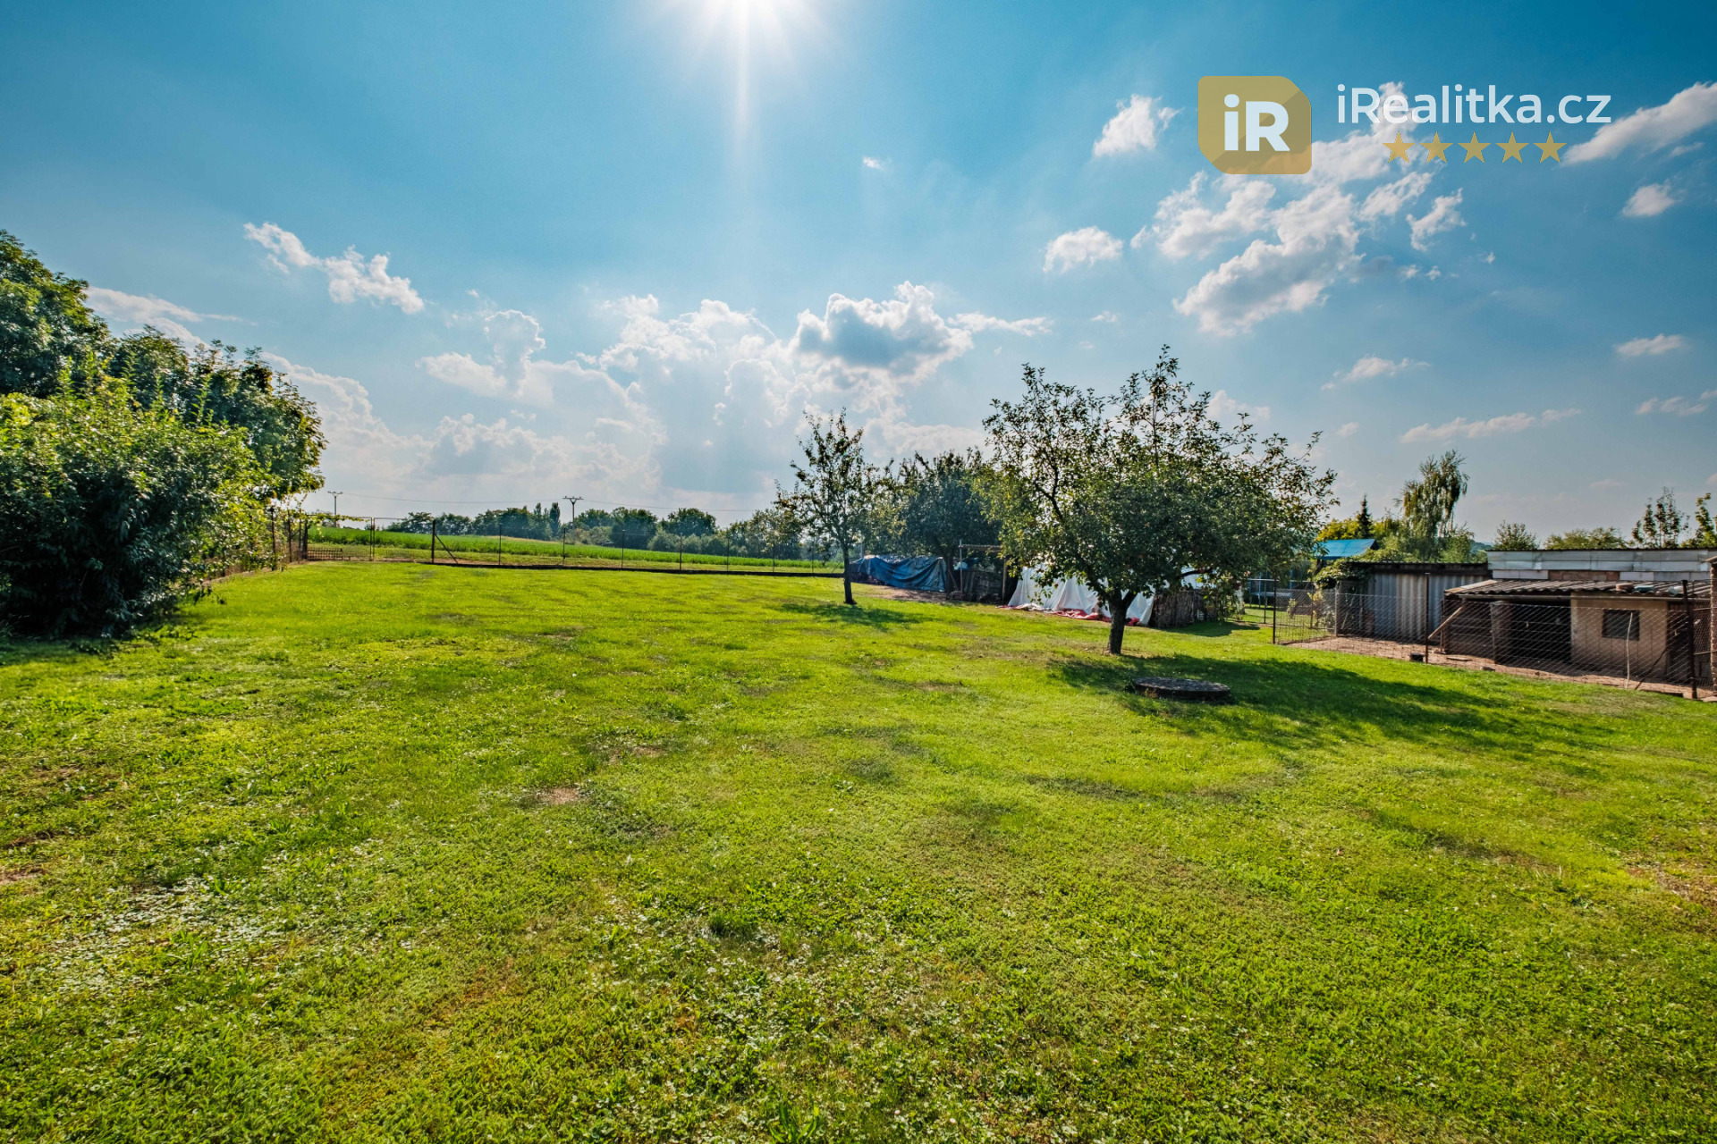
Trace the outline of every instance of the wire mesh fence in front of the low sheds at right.
{"label": "wire mesh fence in front of the low sheds at right", "polygon": [[1708,595],[1537,602],[1439,595],[1430,602],[1343,585],[1248,581],[1247,617],[1272,643],[1305,643],[1466,667],[1659,684],[1712,686]]}

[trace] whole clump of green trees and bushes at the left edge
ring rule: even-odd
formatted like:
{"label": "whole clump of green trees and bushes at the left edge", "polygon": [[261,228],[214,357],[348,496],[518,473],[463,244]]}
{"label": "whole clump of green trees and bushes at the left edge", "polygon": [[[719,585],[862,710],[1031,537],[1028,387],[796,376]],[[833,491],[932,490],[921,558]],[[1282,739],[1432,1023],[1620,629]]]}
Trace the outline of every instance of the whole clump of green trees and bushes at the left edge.
{"label": "whole clump of green trees and bushes at the left edge", "polygon": [[314,405],[258,352],[113,336],[0,232],[0,624],[122,635],[268,552],[321,487]]}

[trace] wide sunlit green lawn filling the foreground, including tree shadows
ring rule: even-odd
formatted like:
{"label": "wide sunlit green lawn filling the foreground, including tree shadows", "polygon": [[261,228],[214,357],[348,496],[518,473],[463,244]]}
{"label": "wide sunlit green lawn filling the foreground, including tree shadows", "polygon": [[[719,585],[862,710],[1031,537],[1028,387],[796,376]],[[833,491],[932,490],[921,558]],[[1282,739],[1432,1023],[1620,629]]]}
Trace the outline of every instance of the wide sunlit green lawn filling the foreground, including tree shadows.
{"label": "wide sunlit green lawn filling the foreground, including tree shadows", "polygon": [[0,1139],[1717,1135],[1717,707],[838,592],[0,647]]}

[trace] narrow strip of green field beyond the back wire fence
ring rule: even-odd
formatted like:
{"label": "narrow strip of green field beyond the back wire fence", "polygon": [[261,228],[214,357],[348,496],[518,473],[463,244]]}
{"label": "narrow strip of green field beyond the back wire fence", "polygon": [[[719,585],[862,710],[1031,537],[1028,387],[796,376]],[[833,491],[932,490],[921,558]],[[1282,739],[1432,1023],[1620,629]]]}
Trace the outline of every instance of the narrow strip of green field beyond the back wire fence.
{"label": "narrow strip of green field beyond the back wire fence", "polygon": [[[429,533],[369,532],[366,528],[311,528],[309,542],[318,556],[337,549],[349,559],[428,561]],[[476,564],[659,564],[690,568],[755,568],[781,571],[840,571],[840,561],[771,559],[767,556],[730,556],[725,552],[658,552],[654,549],[618,549],[604,544],[561,544],[560,540],[524,540],[519,537],[434,537],[436,561],[470,561]],[[452,552],[452,556],[450,556]]]}

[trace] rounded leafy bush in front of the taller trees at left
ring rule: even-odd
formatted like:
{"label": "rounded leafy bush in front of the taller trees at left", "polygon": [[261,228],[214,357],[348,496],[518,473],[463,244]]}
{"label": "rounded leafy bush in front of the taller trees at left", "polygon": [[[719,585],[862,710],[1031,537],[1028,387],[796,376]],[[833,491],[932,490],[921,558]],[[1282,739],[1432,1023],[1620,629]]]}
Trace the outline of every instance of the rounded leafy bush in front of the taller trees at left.
{"label": "rounded leafy bush in front of the taller trees at left", "polygon": [[0,616],[21,635],[124,635],[256,551],[270,484],[239,431],[124,386],[0,396]]}

